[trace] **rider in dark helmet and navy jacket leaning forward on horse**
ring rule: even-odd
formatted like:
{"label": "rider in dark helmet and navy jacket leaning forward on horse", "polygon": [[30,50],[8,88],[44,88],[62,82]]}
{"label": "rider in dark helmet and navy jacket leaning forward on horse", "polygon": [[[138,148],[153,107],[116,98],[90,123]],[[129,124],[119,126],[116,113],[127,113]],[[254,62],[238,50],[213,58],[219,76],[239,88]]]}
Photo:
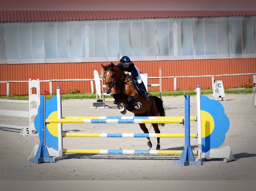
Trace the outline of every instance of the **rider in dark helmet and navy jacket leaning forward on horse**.
{"label": "rider in dark helmet and navy jacket leaning forward on horse", "polygon": [[145,97],[147,99],[150,99],[152,95],[147,92],[147,89],[143,81],[141,80],[140,73],[137,67],[131,62],[130,58],[128,56],[123,56],[119,62],[120,63],[117,65],[117,67],[124,71],[125,74],[135,78],[138,82],[140,89],[145,93]]}

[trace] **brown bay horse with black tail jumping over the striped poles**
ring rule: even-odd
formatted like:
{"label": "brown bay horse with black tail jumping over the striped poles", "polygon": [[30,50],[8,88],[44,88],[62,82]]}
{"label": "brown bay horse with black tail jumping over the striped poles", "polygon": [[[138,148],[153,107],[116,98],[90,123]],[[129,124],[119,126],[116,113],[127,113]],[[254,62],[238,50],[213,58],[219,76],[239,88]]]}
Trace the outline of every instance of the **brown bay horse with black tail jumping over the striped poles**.
{"label": "brown bay horse with black tail jumping over the striped poles", "polygon": [[[124,74],[124,72],[113,63],[108,66],[103,66],[104,80],[106,84],[106,93],[110,94],[111,89],[114,88],[113,98],[122,114],[126,110],[134,113],[134,116],[165,116],[163,101],[157,97],[152,96],[149,100],[144,94],[136,89],[136,83],[131,76]],[[144,133],[149,133],[144,123],[139,123],[140,128]],[[159,123],[164,126],[164,123]],[[155,133],[160,133],[157,123],[152,123]],[[150,138],[147,138],[148,150],[152,147]],[[157,137],[157,150],[160,150],[160,138]]]}

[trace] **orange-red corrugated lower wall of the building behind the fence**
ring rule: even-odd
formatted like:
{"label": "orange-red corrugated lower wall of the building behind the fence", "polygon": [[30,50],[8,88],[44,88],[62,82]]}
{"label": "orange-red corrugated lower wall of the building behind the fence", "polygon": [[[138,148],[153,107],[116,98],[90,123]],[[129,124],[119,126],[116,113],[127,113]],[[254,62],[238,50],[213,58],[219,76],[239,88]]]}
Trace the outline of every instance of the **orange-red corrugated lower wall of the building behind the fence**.
{"label": "orange-red corrugated lower wall of the building behind the fence", "polygon": [[[256,58],[250,59],[212,59],[212,60],[174,60],[174,61],[137,61],[135,65],[148,77],[159,77],[161,66],[162,77],[201,76],[256,73]],[[101,64],[93,63],[53,63],[53,64],[0,64],[0,81],[25,81],[29,77],[39,80],[57,79],[93,79],[93,71],[101,75]],[[118,62],[114,62],[118,64]],[[253,84],[253,76],[222,76],[224,88],[237,88],[244,84]],[[159,84],[159,79],[149,79],[148,84]],[[211,77],[177,78],[178,90],[194,90],[197,85],[202,89],[212,89]],[[90,81],[52,82],[53,93],[60,86],[67,93],[77,88],[80,92],[91,92]],[[9,83],[10,95],[28,95],[27,83]],[[49,91],[49,82],[41,83],[41,94]],[[157,91],[159,87],[148,87],[148,91]],[[162,91],[173,91],[173,78],[162,79]],[[6,83],[0,83],[0,95],[6,95]]]}

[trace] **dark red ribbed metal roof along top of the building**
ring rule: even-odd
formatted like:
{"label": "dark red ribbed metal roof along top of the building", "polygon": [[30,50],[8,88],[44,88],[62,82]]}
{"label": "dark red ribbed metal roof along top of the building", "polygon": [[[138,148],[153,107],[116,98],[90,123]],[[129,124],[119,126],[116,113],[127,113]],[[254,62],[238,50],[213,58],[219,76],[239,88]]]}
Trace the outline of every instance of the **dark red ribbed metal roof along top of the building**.
{"label": "dark red ribbed metal roof along top of the building", "polygon": [[254,15],[256,11],[0,11],[0,22]]}

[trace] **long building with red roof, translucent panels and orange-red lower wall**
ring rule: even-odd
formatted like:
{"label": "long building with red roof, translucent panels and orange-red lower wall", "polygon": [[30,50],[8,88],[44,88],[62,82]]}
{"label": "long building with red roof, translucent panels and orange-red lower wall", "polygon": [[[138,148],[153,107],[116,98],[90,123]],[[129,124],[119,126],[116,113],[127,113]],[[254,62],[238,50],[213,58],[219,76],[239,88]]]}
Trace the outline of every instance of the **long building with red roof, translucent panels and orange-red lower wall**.
{"label": "long building with red roof, translucent panels and orange-red lower wall", "polygon": [[[255,23],[256,11],[0,11],[0,81],[93,79],[101,64],[129,56],[148,77],[161,68],[163,91],[184,76],[207,77],[177,78],[179,90],[211,89],[208,76],[256,73]],[[252,75],[215,79],[224,88],[253,84]],[[91,92],[90,81],[55,86]],[[5,83],[0,91],[6,95]],[[25,83],[10,85],[10,94],[27,91]]]}

